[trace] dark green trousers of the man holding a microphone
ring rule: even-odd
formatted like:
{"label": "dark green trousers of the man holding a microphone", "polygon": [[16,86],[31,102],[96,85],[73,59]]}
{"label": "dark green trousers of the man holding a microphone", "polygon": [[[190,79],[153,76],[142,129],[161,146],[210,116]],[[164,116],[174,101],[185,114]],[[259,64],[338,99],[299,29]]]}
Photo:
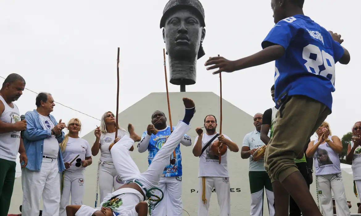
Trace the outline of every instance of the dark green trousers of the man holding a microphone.
{"label": "dark green trousers of the man holding a microphone", "polygon": [[16,162],[0,158],[0,216],[7,216],[13,194]]}

